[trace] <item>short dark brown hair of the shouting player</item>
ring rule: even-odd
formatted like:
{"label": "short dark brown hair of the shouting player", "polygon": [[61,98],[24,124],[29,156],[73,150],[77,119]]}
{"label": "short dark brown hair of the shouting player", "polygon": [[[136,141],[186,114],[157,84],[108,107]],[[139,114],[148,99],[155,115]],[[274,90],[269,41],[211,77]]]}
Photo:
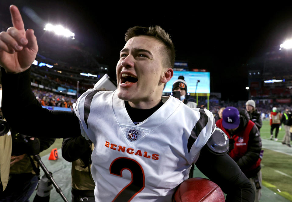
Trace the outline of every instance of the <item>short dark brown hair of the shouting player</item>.
{"label": "short dark brown hair of the shouting player", "polygon": [[125,34],[125,41],[127,42],[128,40],[130,40],[130,38],[137,36],[154,37],[155,39],[161,41],[165,45],[166,54],[166,56],[164,57],[165,66],[168,68],[173,68],[176,53],[174,50],[174,45],[168,33],[166,33],[158,25],[156,25],[155,27],[134,26],[127,30]]}

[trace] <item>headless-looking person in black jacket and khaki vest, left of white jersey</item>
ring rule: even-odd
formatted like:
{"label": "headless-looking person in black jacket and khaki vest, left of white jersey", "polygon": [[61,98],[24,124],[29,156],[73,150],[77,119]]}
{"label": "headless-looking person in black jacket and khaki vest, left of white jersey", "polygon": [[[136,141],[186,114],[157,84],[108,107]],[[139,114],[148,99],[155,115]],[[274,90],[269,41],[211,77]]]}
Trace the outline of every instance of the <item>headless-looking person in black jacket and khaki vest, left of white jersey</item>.
{"label": "headless-looking person in black jacket and khaki vest, left of white jersey", "polygon": [[66,161],[72,162],[72,202],[81,202],[85,199],[95,202],[95,184],[90,170],[93,148],[93,143],[82,136],[63,140],[62,156]]}

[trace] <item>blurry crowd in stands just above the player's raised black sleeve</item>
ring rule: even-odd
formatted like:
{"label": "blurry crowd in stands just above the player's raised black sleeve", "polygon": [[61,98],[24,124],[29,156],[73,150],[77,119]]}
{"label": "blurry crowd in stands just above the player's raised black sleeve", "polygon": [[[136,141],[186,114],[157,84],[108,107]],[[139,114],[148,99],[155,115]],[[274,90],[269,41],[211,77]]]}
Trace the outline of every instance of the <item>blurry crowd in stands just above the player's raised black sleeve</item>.
{"label": "blurry crowd in stands just above the player's raised black sleeve", "polygon": [[33,89],[33,93],[36,99],[42,106],[58,106],[65,108],[72,108],[72,104],[76,102],[76,99],[63,95],[58,95],[54,92],[41,91]]}

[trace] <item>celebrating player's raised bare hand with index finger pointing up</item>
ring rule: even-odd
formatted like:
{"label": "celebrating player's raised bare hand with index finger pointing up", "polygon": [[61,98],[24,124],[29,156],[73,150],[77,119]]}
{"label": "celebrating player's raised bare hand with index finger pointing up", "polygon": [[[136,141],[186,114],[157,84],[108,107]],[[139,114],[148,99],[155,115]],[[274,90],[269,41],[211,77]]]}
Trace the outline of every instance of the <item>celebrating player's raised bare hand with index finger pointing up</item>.
{"label": "celebrating player's raised bare hand with index finger pointing up", "polygon": [[0,33],[0,65],[6,72],[19,73],[30,67],[36,58],[38,46],[33,30],[24,29],[20,12],[10,6],[13,27]]}

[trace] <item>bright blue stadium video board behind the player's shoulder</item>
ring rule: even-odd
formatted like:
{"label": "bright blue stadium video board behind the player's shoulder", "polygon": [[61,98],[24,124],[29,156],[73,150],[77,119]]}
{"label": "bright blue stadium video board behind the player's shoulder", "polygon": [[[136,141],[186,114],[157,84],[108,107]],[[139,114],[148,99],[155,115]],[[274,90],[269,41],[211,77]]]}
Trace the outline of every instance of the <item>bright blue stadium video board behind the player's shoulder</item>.
{"label": "bright blue stadium video board behind the player's shoulder", "polygon": [[210,93],[210,72],[200,71],[174,71],[172,79],[167,82],[163,92],[172,92],[172,84],[179,76],[184,76],[187,83],[189,93],[196,91],[196,83],[198,80],[198,87],[196,93]]}

